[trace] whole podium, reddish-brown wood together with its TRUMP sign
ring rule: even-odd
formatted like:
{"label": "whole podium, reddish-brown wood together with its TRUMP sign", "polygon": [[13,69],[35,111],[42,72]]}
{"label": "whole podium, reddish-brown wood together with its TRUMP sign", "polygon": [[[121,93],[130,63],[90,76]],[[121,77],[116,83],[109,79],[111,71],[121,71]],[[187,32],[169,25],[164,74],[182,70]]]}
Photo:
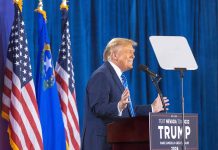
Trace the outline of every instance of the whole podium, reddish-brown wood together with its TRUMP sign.
{"label": "whole podium, reddish-brown wood together with its TRUMP sign", "polygon": [[112,150],[198,150],[198,115],[149,113],[149,117],[125,118],[107,126]]}

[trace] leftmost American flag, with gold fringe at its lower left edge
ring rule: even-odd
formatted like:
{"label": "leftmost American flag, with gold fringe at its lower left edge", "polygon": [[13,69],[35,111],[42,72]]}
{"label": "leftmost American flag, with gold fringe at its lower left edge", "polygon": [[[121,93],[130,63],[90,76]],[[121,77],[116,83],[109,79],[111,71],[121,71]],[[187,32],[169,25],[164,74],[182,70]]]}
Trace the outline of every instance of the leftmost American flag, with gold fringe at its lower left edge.
{"label": "leftmost American flag, with gold fringe at its lower left edge", "polygon": [[24,22],[16,3],[5,66],[2,117],[9,122],[12,149],[43,149]]}

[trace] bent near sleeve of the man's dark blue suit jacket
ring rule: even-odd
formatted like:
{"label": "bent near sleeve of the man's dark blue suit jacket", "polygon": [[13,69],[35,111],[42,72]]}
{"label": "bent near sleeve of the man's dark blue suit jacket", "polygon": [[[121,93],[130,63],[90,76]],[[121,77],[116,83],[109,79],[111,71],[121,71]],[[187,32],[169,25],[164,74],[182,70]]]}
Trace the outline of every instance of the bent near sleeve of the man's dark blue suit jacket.
{"label": "bent near sleeve of the man's dark blue suit jacket", "polygon": [[110,84],[103,72],[95,74],[87,87],[88,104],[91,111],[99,117],[118,116],[117,101],[110,100]]}

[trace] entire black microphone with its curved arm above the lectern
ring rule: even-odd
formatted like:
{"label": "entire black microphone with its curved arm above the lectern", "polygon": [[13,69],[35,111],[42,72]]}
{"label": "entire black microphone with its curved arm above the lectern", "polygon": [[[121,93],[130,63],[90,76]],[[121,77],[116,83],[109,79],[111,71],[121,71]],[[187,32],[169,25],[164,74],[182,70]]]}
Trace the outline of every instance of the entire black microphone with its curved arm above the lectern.
{"label": "entire black microphone with its curved arm above the lectern", "polygon": [[158,84],[162,78],[158,74],[150,71],[149,68],[145,65],[142,65],[142,64],[139,65],[139,70],[146,72],[150,76],[151,81],[154,84],[154,87],[156,88],[156,90],[160,96],[164,112],[167,112],[166,105],[165,105],[164,100],[163,100],[163,94],[162,94],[160,87],[159,87],[159,84]]}

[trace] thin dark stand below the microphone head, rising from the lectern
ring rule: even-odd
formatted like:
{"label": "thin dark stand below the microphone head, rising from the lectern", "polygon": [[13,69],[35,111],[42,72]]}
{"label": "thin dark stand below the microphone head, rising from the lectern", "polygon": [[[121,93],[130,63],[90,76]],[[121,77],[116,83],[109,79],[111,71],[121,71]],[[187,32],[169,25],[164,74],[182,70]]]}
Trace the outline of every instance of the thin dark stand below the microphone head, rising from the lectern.
{"label": "thin dark stand below the microphone head, rising from the lectern", "polygon": [[165,103],[164,103],[164,100],[163,100],[163,94],[162,94],[162,92],[161,92],[161,90],[160,90],[160,87],[159,87],[159,85],[158,85],[158,83],[160,82],[160,80],[161,80],[162,78],[159,77],[159,76],[153,77],[153,76],[151,76],[151,75],[150,75],[150,78],[151,78],[151,81],[152,81],[152,83],[154,84],[154,87],[156,88],[156,90],[157,90],[157,92],[158,92],[158,94],[159,94],[159,96],[160,96],[160,99],[161,99],[161,102],[162,102],[162,105],[163,105],[164,112],[167,113],[166,106],[165,106]]}

